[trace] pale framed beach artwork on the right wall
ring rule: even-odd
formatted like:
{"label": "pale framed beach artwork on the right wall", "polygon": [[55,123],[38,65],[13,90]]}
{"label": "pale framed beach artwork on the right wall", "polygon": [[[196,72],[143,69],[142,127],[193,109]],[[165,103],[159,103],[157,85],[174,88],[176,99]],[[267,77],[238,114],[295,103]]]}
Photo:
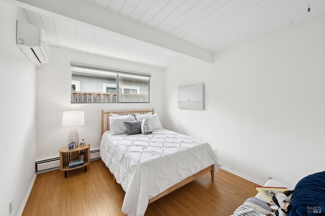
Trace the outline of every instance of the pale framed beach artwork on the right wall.
{"label": "pale framed beach artwork on the right wall", "polygon": [[179,86],[178,108],[186,110],[204,110],[204,85]]}

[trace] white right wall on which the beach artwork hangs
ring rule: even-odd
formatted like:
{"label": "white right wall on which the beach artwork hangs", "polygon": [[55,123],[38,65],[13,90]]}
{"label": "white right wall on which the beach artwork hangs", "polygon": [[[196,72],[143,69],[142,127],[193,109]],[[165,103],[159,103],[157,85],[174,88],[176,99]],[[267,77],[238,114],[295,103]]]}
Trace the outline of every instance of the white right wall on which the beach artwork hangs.
{"label": "white right wall on which the beach artwork hangs", "polygon": [[[225,168],[295,185],[324,170],[325,18],[190,61],[165,77],[165,127],[208,141]],[[180,110],[177,86],[205,84],[205,111]]]}

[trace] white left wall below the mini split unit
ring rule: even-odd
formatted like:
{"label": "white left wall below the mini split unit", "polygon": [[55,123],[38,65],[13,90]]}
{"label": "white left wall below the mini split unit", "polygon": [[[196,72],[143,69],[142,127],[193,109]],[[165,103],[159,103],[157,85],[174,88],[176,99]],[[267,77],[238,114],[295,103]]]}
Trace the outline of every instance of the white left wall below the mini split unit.
{"label": "white left wall below the mini split unit", "polygon": [[36,68],[16,45],[16,8],[0,1],[0,214],[21,212],[35,175]]}

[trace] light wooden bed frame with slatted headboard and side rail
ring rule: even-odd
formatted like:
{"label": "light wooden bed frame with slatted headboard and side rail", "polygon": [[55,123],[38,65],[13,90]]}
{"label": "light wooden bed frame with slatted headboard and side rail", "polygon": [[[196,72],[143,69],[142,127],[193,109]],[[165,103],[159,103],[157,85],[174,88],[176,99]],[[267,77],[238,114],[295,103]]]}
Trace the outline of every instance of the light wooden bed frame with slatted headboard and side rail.
{"label": "light wooden bed frame with slatted headboard and side rail", "polygon": [[[104,112],[104,110],[102,110],[102,133],[101,133],[101,136],[103,135],[103,133],[106,131],[106,130],[109,130],[110,129],[110,124],[109,124],[109,114],[110,113],[113,113],[113,114],[117,114],[117,115],[129,115],[129,114],[132,114],[134,115],[134,113],[139,113],[139,114],[146,114],[146,113],[150,113],[152,112],[152,114],[154,114],[153,112],[153,108],[152,110],[137,110],[137,111],[113,111],[113,112]],[[212,164],[211,166],[208,166],[204,169],[202,169],[201,171],[191,175],[191,176],[188,176],[187,178],[185,178],[183,181],[173,185],[172,187],[166,189],[166,191],[163,191],[161,192],[160,194],[156,195],[155,197],[152,197],[151,199],[149,199],[149,203],[152,203],[154,201],[156,201],[157,199],[179,189],[180,187],[186,185],[187,183],[190,183],[191,181],[193,181],[194,179],[200,177],[201,175],[204,175],[205,173],[207,172],[210,172],[211,173],[211,181],[213,182],[214,181],[214,164]],[[113,174],[113,179],[114,179],[114,182],[116,182],[115,180],[115,176]]]}

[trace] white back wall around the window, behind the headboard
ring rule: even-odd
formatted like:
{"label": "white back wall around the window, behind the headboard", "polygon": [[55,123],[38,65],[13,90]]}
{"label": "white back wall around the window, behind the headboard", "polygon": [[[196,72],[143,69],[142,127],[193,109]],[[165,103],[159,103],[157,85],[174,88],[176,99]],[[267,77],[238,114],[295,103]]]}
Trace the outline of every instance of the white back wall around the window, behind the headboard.
{"label": "white back wall around the window, behind the headboard", "polygon": [[[71,103],[70,62],[135,70],[151,74],[151,103]],[[101,138],[101,110],[155,109],[161,123],[164,120],[164,69],[133,62],[87,55],[51,47],[50,63],[39,69],[37,76],[37,155],[36,160],[59,156],[59,149],[67,145],[70,128],[61,127],[63,111],[84,111],[85,125],[78,127],[80,140],[99,149]]]}

